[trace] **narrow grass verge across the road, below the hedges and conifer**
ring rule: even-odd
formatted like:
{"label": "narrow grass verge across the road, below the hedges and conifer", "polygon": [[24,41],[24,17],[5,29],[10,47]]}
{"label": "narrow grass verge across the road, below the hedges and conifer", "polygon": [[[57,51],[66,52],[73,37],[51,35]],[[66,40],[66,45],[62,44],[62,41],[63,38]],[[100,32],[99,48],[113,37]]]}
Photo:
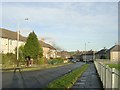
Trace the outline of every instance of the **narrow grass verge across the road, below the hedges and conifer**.
{"label": "narrow grass verge across the road, below the hedges and conifer", "polygon": [[[45,65],[40,65],[40,66],[37,66],[37,67],[22,67],[22,71],[43,70],[43,69],[48,69],[48,68],[60,67],[60,66],[68,65],[68,64],[71,64],[71,63],[63,63],[63,64],[56,64],[56,65],[45,64]],[[13,71],[14,71],[14,69],[12,69],[12,70],[2,70],[2,72],[13,72]]]}

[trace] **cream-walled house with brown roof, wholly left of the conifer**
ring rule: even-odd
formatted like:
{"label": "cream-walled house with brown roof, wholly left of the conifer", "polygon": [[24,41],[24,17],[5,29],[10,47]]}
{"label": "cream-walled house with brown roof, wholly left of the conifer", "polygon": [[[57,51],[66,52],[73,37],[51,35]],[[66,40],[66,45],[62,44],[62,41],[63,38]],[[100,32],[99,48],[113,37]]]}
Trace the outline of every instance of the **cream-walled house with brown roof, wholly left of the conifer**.
{"label": "cream-walled house with brown roof, wholly left of the conifer", "polygon": [[[0,37],[1,49],[0,53],[15,53],[17,47],[17,32],[0,28],[2,35]],[[18,46],[24,45],[27,38],[19,36]]]}

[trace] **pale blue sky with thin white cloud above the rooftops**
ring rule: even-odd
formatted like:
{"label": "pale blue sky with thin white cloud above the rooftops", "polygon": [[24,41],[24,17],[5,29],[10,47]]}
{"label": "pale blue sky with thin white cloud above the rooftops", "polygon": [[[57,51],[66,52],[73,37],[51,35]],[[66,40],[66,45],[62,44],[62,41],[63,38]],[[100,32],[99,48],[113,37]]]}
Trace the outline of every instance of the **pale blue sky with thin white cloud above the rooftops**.
{"label": "pale blue sky with thin white cloud above the rooftops", "polygon": [[[117,2],[2,2],[0,27],[34,31],[67,51],[100,50],[118,42]],[[25,20],[28,18],[28,20]]]}

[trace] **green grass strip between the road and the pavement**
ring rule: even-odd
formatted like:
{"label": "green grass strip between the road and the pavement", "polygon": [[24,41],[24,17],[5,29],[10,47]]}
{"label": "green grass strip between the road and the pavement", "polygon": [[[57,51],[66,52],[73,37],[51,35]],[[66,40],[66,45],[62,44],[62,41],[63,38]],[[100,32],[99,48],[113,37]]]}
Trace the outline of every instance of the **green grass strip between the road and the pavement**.
{"label": "green grass strip between the road and the pavement", "polygon": [[63,88],[68,89],[73,86],[77,79],[83,74],[83,72],[88,68],[88,64],[82,65],[80,68],[52,81],[49,83],[47,88]]}

